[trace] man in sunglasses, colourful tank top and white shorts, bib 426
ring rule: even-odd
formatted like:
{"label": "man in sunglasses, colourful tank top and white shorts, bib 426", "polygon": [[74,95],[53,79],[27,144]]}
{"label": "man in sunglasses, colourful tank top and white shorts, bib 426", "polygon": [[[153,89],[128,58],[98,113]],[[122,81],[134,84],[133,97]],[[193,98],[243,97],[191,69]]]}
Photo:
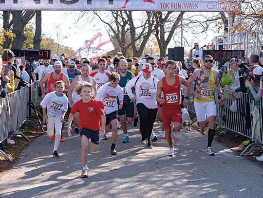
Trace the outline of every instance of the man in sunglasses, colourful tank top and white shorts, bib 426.
{"label": "man in sunglasses, colourful tank top and white shorts, bib 426", "polygon": [[195,81],[195,89],[193,89],[191,86],[188,86],[186,89],[184,100],[184,104],[187,104],[189,91],[194,94],[194,107],[196,117],[202,133],[205,130],[208,118],[209,129],[207,154],[210,156],[215,155],[211,147],[215,135],[216,119],[214,90],[216,90],[218,93],[218,99],[224,100],[224,94],[222,93],[219,84],[219,73],[212,69],[213,63],[214,59],[211,55],[204,56],[204,67],[202,69],[195,70],[191,77],[188,79],[189,84]]}

